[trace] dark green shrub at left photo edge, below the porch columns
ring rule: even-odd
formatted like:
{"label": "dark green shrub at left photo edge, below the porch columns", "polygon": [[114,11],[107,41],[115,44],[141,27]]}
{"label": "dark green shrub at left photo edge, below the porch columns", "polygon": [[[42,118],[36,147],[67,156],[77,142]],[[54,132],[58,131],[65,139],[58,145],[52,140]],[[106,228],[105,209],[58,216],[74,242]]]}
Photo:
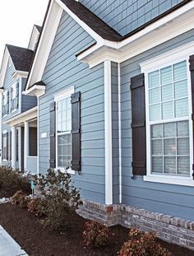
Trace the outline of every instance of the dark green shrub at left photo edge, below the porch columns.
{"label": "dark green shrub at left photo edge, below the porch columns", "polygon": [[3,193],[13,195],[18,190],[30,193],[29,175],[23,176],[18,170],[7,166],[0,166],[0,190]]}

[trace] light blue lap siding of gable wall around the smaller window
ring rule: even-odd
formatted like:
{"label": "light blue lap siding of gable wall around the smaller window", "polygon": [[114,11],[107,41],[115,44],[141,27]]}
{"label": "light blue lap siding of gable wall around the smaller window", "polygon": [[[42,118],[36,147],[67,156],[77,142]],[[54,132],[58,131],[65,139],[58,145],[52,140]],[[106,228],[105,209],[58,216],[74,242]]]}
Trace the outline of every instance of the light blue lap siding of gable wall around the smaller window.
{"label": "light blue lap siding of gable wall around the smaller window", "polygon": [[[72,175],[82,198],[104,202],[104,64],[90,69],[76,54],[94,40],[67,13],[58,31],[44,70],[45,95],[39,98],[39,172],[49,167],[49,105],[68,86],[81,91],[81,173]],[[47,137],[41,138],[41,133]]]}

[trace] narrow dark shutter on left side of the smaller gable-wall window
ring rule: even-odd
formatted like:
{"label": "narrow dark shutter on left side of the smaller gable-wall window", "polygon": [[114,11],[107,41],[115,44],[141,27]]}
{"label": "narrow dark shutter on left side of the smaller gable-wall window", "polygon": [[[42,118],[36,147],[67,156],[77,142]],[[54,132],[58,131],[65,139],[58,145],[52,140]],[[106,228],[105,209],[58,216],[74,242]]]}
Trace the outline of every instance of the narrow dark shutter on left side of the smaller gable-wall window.
{"label": "narrow dark shutter on left side of the smaller gable-wall window", "polygon": [[50,168],[56,167],[56,105],[50,105]]}

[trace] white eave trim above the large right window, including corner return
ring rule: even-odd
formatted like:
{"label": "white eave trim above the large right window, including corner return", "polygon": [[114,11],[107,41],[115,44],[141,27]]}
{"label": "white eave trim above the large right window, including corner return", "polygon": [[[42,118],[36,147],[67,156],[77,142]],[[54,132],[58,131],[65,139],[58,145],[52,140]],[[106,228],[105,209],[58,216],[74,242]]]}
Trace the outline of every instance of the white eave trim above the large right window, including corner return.
{"label": "white eave trim above the large right window, including corner return", "polygon": [[[159,21],[155,21],[155,23],[150,24],[150,26],[147,26],[126,40],[122,40],[121,42],[104,40],[104,45],[96,44],[94,48],[85,50],[77,59],[89,63],[90,67],[95,67],[99,63],[104,62],[104,55],[102,54],[101,59],[99,57],[99,50],[103,49],[104,54],[113,52],[114,50],[112,58],[115,61],[118,58],[118,63],[122,63],[188,30],[192,30],[194,28],[193,10],[194,1],[180,7],[168,16],[164,16]],[[115,58],[116,54],[118,54],[117,58]]]}

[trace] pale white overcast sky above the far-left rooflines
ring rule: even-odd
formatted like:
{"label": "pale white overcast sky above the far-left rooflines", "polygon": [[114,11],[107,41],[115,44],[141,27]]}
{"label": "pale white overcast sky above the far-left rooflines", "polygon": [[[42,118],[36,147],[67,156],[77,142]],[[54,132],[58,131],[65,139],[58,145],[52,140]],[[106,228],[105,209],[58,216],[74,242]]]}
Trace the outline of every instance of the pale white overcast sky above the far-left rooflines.
{"label": "pale white overcast sky above the far-left rooflines", "polygon": [[48,0],[0,0],[0,66],[5,44],[27,48],[33,25],[42,26]]}

